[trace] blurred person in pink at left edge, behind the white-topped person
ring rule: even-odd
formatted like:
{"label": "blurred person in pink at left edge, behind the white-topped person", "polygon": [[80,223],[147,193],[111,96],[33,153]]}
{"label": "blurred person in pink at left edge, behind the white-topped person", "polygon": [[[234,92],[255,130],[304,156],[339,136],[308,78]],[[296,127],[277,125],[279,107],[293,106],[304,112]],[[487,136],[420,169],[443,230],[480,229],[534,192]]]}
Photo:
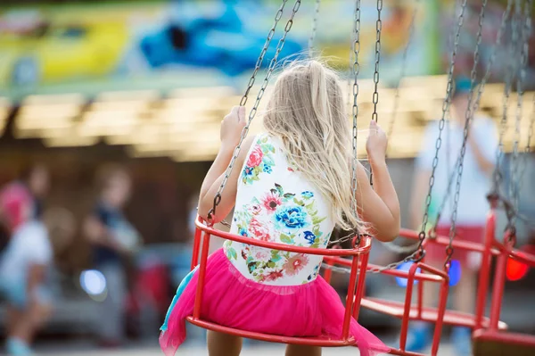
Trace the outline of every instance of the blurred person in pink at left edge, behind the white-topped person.
{"label": "blurred person in pink at left edge, behind the white-topped person", "polygon": [[0,227],[2,229],[0,252],[19,226],[41,216],[49,180],[45,166],[32,164],[21,171],[18,179],[2,188],[0,191]]}

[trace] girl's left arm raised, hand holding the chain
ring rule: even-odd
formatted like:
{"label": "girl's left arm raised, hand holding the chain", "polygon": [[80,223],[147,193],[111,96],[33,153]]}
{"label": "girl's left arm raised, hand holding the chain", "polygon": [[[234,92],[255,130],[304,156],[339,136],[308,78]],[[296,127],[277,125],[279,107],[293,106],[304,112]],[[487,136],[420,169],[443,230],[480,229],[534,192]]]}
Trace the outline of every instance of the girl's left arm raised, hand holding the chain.
{"label": "girl's left arm raised, hand holding the chain", "polygon": [[[243,106],[235,106],[222,121],[219,153],[202,182],[199,196],[199,215],[202,219],[208,218],[208,212],[213,207],[214,196],[218,193],[219,186],[221,186],[221,182],[225,178],[226,167],[228,167],[235,147],[240,141],[245,124],[245,108]],[[247,159],[247,153],[249,153],[254,139],[255,137],[248,137],[243,141],[242,149],[235,161],[234,170],[232,170],[230,177],[226,181],[213,223],[225,219],[226,215],[235,206],[238,178],[242,173],[243,162]]]}

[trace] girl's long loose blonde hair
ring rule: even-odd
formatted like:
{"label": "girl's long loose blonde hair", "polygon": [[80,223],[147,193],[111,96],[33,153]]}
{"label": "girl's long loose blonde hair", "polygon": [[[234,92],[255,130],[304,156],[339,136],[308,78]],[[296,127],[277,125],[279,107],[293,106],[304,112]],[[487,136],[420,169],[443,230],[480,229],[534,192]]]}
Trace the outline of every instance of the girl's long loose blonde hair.
{"label": "girl's long loose blonde hair", "polygon": [[340,80],[317,61],[293,62],[276,81],[264,128],[281,137],[288,161],[332,202],[344,229],[366,227],[352,208],[351,137]]}

